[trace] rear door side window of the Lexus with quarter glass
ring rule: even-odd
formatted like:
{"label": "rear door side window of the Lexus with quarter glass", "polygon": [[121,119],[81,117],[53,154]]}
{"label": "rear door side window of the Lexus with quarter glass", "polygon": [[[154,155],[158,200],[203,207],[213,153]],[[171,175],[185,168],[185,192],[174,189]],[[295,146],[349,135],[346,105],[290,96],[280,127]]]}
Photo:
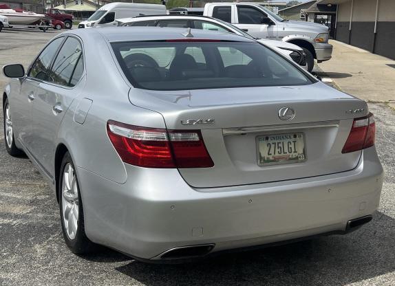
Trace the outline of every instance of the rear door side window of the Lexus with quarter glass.
{"label": "rear door side window of the Lexus with quarter glass", "polygon": [[75,38],[67,38],[59,51],[50,72],[53,83],[74,87],[80,80],[84,70],[83,49]]}

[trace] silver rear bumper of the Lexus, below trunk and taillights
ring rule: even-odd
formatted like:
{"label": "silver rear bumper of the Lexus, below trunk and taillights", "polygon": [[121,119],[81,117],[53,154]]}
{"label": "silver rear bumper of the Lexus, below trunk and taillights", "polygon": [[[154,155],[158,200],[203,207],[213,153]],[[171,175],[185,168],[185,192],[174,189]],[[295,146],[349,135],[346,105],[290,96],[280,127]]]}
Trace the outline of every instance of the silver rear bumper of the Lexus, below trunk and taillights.
{"label": "silver rear bumper of the Lexus, below trunk and taillights", "polygon": [[125,184],[77,169],[85,230],[96,243],[153,260],[186,245],[219,252],[345,231],[378,207],[383,173],[374,147],[348,172],[224,188],[192,188],[175,169],[126,168]]}

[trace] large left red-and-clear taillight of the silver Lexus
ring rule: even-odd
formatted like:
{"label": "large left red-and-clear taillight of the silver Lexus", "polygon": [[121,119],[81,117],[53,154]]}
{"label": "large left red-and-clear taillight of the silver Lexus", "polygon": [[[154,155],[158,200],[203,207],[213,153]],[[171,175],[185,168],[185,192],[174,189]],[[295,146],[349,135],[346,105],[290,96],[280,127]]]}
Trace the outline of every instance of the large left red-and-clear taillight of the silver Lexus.
{"label": "large left red-and-clear taillight of the silver Lexus", "polygon": [[123,162],[146,168],[214,166],[199,130],[153,129],[109,120],[107,134]]}

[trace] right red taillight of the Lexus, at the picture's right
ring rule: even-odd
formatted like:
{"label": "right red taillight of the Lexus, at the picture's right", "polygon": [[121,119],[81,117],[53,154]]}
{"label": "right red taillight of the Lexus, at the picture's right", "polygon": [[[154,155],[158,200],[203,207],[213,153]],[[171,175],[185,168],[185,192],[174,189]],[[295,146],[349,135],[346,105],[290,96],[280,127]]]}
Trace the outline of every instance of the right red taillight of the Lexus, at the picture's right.
{"label": "right red taillight of the Lexus, at the picture's right", "polygon": [[375,132],[376,125],[372,113],[363,118],[355,118],[341,153],[350,153],[373,146]]}

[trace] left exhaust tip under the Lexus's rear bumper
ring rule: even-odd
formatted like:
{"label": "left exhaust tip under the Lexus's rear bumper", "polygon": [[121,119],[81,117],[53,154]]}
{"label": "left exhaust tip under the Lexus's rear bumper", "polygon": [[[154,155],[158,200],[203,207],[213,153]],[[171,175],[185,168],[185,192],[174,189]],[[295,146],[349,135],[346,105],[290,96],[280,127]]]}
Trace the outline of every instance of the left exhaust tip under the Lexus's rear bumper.
{"label": "left exhaust tip under the Lexus's rear bumper", "polygon": [[204,245],[189,245],[182,246],[180,248],[172,248],[167,250],[160,255],[161,259],[194,259],[197,257],[205,256],[209,254],[214,248],[214,244]]}

